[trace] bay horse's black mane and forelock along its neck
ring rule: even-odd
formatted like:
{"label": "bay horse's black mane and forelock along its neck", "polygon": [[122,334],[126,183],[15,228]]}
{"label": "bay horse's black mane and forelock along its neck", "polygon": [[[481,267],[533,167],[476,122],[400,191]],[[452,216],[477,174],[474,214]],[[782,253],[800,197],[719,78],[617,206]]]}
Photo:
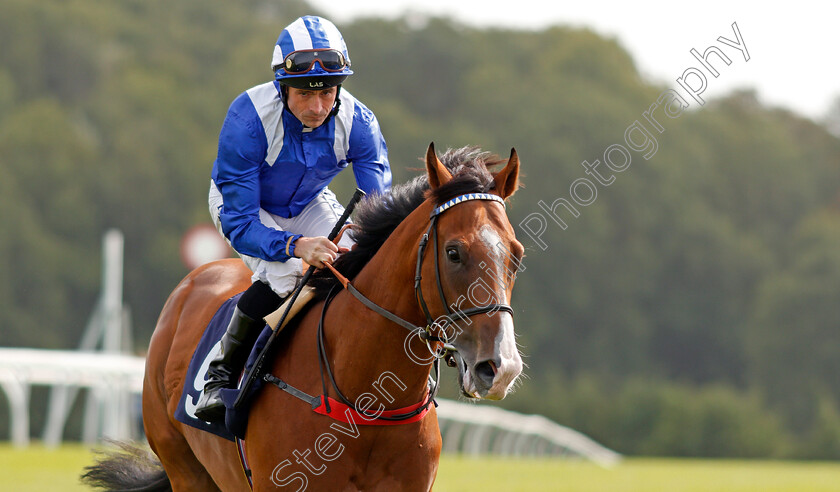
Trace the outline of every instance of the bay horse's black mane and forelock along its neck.
{"label": "bay horse's black mane and forelock along its neck", "polygon": [[[350,280],[355,278],[394,229],[427,197],[438,206],[464,193],[486,193],[494,184],[488,167],[505,162],[477,147],[448,149],[440,161],[452,173],[452,179],[435,190],[429,190],[429,180],[424,174],[395,185],[389,193],[371,195],[359,202],[354,226],[348,231],[356,246],[333,264],[342,275]],[[322,299],[336,284],[335,276],[323,269],[316,271],[309,285],[315,287],[316,297]]]}

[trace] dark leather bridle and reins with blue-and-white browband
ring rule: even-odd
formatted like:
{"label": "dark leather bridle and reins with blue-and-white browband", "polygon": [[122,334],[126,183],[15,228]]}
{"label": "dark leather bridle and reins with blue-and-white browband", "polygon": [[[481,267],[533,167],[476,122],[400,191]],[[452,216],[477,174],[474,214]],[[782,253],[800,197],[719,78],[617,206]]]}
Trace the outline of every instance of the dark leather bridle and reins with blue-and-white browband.
{"label": "dark leather bridle and reins with blue-and-white browband", "polygon": [[[352,407],[355,411],[357,411],[357,412],[359,412],[363,415],[366,415],[366,416],[370,417],[371,419],[378,419],[378,420],[405,420],[405,419],[409,419],[411,417],[414,417],[415,415],[425,411],[428,408],[428,406],[434,401],[435,395],[437,394],[438,384],[439,384],[439,380],[440,380],[440,378],[438,377],[438,374],[439,374],[440,358],[441,357],[451,356],[454,360],[454,363],[458,365],[459,379],[462,376],[462,372],[464,370],[463,359],[458,354],[457,349],[451,343],[449,343],[448,337],[445,336],[445,328],[448,327],[448,325],[450,323],[452,323],[455,319],[465,320],[465,319],[468,319],[470,316],[475,316],[475,315],[478,315],[478,314],[495,313],[495,312],[498,312],[498,311],[504,311],[504,312],[509,313],[511,316],[513,316],[513,308],[511,308],[509,304],[488,303],[488,304],[482,305],[482,306],[476,306],[476,307],[471,307],[471,308],[467,308],[467,309],[459,309],[457,311],[453,311],[449,308],[449,304],[446,301],[446,295],[443,292],[443,283],[441,282],[441,275],[440,275],[440,260],[439,260],[439,255],[438,255],[439,246],[438,246],[438,234],[437,234],[437,221],[438,221],[438,218],[440,217],[440,215],[443,212],[445,212],[446,210],[449,210],[450,208],[452,208],[455,205],[458,205],[460,203],[464,203],[464,202],[472,201],[472,200],[494,201],[494,202],[501,203],[503,207],[505,206],[505,202],[501,197],[499,197],[497,195],[490,194],[490,193],[467,193],[467,194],[464,194],[464,195],[459,195],[459,196],[447,201],[446,203],[440,205],[439,207],[436,207],[432,211],[432,213],[429,217],[429,227],[426,229],[426,232],[423,233],[423,236],[420,239],[420,245],[417,248],[417,267],[416,267],[415,275],[414,275],[414,291],[415,291],[415,295],[417,297],[417,303],[420,305],[420,309],[423,311],[423,315],[426,317],[426,326],[425,327],[416,326],[415,324],[397,316],[396,314],[388,311],[387,309],[385,309],[385,308],[379,306],[378,304],[376,304],[375,302],[371,301],[364,294],[359,292],[359,290],[356,289],[356,287],[346,277],[344,277],[341,273],[339,273],[332,265],[326,264],[327,268],[329,268],[329,270],[332,271],[332,273],[336,276],[336,278],[338,278],[339,282],[341,282],[341,284],[344,286],[344,288],[348,292],[350,292],[350,294],[352,294],[353,297],[358,299],[359,302],[364,304],[367,308],[369,308],[372,311],[380,314],[381,316],[385,317],[389,321],[392,321],[392,322],[402,326],[403,328],[409,330],[410,332],[416,333],[420,339],[422,339],[426,342],[427,345],[429,345],[429,342],[440,342],[440,343],[443,344],[442,347],[438,347],[436,350],[433,351],[433,354],[435,355],[435,360],[432,364],[433,364],[433,368],[434,368],[434,371],[435,371],[435,377],[432,378],[430,376],[430,380],[431,380],[430,381],[430,386],[431,386],[431,388],[429,389],[428,397],[425,400],[425,402],[423,403],[423,405],[421,405],[417,409],[412,410],[411,412],[407,412],[405,414],[393,415],[393,416],[389,416],[389,417],[378,416],[378,415],[369,414],[365,410],[357,408],[356,405],[353,402],[351,402],[349,399],[347,399],[341,393],[341,391],[338,389],[338,387],[336,385],[336,382],[335,382],[335,378],[333,377],[333,374],[332,374],[332,369],[330,369],[329,360],[328,360],[327,355],[326,355],[326,350],[324,349],[324,317],[326,316],[327,307],[329,306],[330,302],[332,301],[333,297],[336,294],[335,287],[332,290],[330,290],[329,294],[327,295],[327,298],[324,302],[323,309],[321,311],[321,319],[318,323],[318,356],[319,356],[319,362],[321,364],[321,384],[323,386],[325,395],[327,394],[326,381],[325,381],[325,378],[324,378],[324,373],[326,372],[326,374],[329,376],[330,382],[332,383],[333,390],[335,390],[336,394],[339,397],[339,400],[342,403],[344,403],[345,405],[348,405],[348,406]],[[421,273],[422,268],[423,268],[423,259],[424,259],[425,253],[426,253],[426,249],[427,249],[427,245],[428,245],[430,237],[432,239],[432,243],[434,244],[435,280],[437,282],[438,295],[440,296],[440,301],[441,301],[441,303],[444,307],[444,310],[446,311],[446,314],[444,316],[440,317],[440,318],[445,319],[445,324],[443,324],[443,325],[441,325],[438,322],[438,320],[440,320],[440,318],[437,318],[437,320],[436,320],[434,317],[432,317],[431,313],[429,312],[428,305],[426,304],[426,300],[423,297],[423,289],[422,289],[422,286],[421,286],[422,280],[423,280],[422,273]],[[437,330],[436,330],[436,327],[437,327]],[[438,331],[439,334],[438,335],[433,334],[434,331]],[[443,335],[443,336],[440,336],[440,335]],[[431,347],[430,347],[430,351],[431,351]]]}

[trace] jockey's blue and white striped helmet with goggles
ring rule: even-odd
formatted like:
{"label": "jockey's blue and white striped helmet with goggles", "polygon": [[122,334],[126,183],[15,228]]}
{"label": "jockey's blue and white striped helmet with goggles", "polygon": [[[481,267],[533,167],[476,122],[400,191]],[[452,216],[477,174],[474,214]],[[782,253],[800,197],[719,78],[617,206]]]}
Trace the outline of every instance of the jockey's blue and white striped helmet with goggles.
{"label": "jockey's blue and white striped helmet with goggles", "polygon": [[288,25],[274,45],[271,58],[274,78],[299,89],[324,89],[341,84],[350,70],[344,37],[335,25],[305,15]]}

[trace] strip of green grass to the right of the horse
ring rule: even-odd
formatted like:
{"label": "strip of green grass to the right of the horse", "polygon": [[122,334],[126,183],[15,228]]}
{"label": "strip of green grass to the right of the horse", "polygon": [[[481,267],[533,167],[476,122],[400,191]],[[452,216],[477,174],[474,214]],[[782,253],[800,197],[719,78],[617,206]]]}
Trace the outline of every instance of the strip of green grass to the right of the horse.
{"label": "strip of green grass to the right of the horse", "polygon": [[436,492],[838,492],[840,463],[626,459],[612,468],[559,459],[441,461]]}

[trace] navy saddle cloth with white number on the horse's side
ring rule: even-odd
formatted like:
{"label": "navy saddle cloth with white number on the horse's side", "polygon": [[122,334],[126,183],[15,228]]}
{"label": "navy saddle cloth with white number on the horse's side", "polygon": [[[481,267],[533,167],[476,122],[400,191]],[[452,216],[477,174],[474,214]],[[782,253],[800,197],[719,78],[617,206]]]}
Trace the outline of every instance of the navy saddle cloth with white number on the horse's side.
{"label": "navy saddle cloth with white number on the horse's side", "polygon": [[[201,393],[204,390],[204,383],[207,380],[207,368],[210,361],[219,353],[220,340],[227,330],[230,319],[233,316],[233,310],[236,303],[241,297],[241,293],[237,294],[222,304],[210,324],[204,330],[204,335],[198,342],[198,346],[193,352],[190,365],[187,368],[187,376],[184,379],[184,388],[181,392],[181,398],[178,401],[178,408],[175,410],[175,419],[179,422],[195,427],[197,429],[212,432],[217,436],[225,439],[234,440],[234,437],[244,438],[245,429],[247,427],[247,417],[249,410],[250,398],[245,400],[243,405],[236,410],[233,410],[233,402],[239,394],[239,389],[223,389],[221,391],[222,400],[227,407],[225,422],[205,422],[196,418],[195,408],[198,400],[201,398]],[[245,374],[251,370],[257,356],[262,351],[268,338],[271,336],[271,328],[266,325],[262,333],[254,345],[251,355],[248,357],[248,362],[245,364]],[[250,394],[256,393],[263,385],[263,381],[255,380],[251,386]]]}

